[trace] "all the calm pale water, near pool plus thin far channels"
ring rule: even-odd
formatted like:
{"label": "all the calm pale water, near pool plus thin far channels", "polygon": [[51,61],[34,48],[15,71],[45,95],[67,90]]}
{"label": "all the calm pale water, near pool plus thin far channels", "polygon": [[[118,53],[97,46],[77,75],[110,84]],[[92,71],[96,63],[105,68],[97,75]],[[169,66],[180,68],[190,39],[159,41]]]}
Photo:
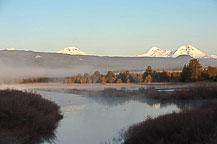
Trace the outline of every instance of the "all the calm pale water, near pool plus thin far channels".
{"label": "all the calm pale water, near pool plus thin far channels", "polygon": [[[105,144],[119,143],[122,131],[147,117],[177,112],[180,109],[201,105],[201,101],[155,101],[145,97],[110,97],[102,95],[72,94],[67,89],[103,90],[122,89],[123,86],[70,86],[70,85],[12,85],[1,88],[36,90],[43,97],[61,106],[64,118],[56,132],[44,137],[44,144]],[[125,86],[128,90],[138,90],[146,85]],[[158,89],[175,89],[188,85],[157,85]],[[48,91],[49,90],[49,91]],[[121,131],[121,132],[120,132]],[[1,135],[0,135],[1,136]],[[38,142],[42,143],[42,142]]]}

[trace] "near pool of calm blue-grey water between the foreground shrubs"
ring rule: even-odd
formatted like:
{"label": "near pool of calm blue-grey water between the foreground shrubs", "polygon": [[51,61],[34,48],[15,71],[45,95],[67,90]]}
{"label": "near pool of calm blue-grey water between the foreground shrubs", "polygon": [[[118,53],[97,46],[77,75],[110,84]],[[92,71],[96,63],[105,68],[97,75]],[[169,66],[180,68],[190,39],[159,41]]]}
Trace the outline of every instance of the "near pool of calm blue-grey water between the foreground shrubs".
{"label": "near pool of calm blue-grey water between the foreground shrubs", "polygon": [[99,98],[64,92],[37,90],[44,98],[61,106],[64,118],[56,130],[57,144],[103,144],[119,132],[144,121],[148,116],[179,111],[174,105],[147,103],[130,98]]}

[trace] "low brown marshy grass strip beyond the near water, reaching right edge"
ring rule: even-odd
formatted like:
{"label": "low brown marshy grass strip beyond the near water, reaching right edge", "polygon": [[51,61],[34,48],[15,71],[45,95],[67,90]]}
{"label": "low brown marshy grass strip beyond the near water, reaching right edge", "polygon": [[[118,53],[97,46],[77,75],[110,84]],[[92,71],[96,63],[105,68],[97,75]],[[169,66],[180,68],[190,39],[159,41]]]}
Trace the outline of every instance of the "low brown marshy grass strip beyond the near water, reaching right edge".
{"label": "low brown marshy grass strip beyond the near water, reaching right edge", "polygon": [[165,100],[205,100],[217,98],[217,84],[198,84],[189,87],[156,88],[139,87],[138,90],[129,90],[126,87],[104,88],[102,90],[88,90],[79,88],[67,88],[65,92],[106,97],[140,97],[160,101]]}

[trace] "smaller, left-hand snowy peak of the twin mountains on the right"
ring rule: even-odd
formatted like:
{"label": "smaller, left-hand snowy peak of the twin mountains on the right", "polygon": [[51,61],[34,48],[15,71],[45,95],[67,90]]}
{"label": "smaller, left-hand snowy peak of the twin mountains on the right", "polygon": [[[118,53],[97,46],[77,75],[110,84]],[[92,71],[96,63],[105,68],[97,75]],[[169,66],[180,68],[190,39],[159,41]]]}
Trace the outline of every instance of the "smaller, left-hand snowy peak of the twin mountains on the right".
{"label": "smaller, left-hand snowy peak of the twin mountains on the right", "polygon": [[157,47],[152,47],[149,51],[138,55],[138,57],[168,57],[170,53],[170,50],[162,50]]}

